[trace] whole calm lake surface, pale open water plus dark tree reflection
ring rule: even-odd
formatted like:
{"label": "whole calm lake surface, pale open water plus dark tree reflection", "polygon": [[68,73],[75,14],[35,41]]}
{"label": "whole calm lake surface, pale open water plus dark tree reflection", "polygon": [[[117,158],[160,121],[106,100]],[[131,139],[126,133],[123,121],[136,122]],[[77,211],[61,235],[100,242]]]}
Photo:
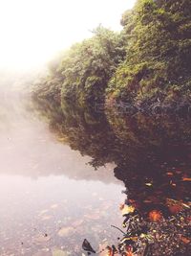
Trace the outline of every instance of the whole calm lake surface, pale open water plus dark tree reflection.
{"label": "whole calm lake surface, pale open water plus dark tree reflection", "polygon": [[14,93],[0,97],[1,256],[84,255],[84,239],[100,251],[123,237],[111,225],[122,228],[128,205],[151,223],[156,211],[168,220],[141,231],[154,239],[151,255],[189,255],[188,123],[110,113],[106,120],[89,109],[46,102],[34,110]]}

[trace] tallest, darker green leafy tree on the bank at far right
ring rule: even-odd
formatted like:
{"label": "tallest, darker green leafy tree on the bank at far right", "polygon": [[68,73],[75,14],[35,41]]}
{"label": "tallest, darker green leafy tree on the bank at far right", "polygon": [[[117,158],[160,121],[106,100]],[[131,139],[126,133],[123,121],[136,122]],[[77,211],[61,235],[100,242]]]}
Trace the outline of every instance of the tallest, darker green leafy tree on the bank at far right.
{"label": "tallest, darker green leafy tree on the bank at far right", "polygon": [[[108,86],[108,98],[152,105],[190,98],[191,2],[139,0],[121,24],[127,55]],[[119,92],[116,94],[116,91]]]}

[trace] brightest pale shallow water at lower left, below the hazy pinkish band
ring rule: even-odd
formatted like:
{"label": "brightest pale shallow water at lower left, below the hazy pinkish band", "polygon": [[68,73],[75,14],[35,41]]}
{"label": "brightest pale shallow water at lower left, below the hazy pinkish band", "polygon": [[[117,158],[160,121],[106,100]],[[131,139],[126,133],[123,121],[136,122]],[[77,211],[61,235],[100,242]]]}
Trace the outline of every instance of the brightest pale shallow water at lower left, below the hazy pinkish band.
{"label": "brightest pale shallow water at lower left, below the hazy pinkish band", "polygon": [[96,247],[106,238],[111,243],[110,225],[120,219],[115,212],[120,190],[64,175],[37,180],[1,175],[0,254],[52,255],[62,249],[80,255],[84,237]]}

